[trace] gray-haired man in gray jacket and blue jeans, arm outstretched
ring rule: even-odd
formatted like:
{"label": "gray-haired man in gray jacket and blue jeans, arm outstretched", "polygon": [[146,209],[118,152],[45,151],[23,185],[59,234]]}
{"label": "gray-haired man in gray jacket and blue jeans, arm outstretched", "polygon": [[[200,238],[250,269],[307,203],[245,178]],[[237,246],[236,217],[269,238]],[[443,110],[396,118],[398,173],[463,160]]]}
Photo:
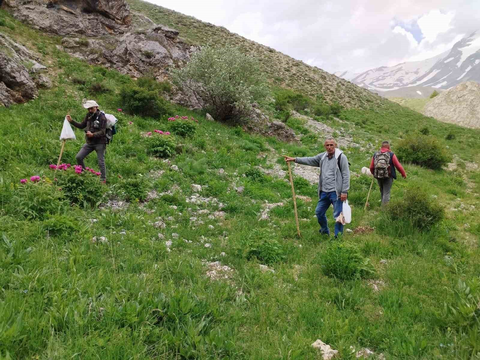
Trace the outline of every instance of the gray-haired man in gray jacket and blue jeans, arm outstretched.
{"label": "gray-haired man in gray jacket and blue jeans, arm outstretched", "polygon": [[[348,159],[343,151],[336,148],[334,138],[324,142],[325,152],[311,157],[284,156],[285,161],[294,161],[297,164],[309,165],[320,168],[318,179],[318,204],[315,209],[321,234],[330,234],[328,229],[326,211],[333,205],[333,217],[336,219],[342,212],[342,203],[347,200],[350,188],[350,169]],[[343,224],[335,223],[335,237],[343,233]]]}

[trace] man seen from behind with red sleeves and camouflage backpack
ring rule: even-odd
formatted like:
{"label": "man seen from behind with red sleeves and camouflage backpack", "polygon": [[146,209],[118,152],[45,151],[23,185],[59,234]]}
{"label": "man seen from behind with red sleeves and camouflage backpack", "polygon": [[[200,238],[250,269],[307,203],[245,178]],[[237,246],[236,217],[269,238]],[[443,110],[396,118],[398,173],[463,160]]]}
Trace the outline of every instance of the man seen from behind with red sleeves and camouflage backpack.
{"label": "man seen from behind with red sleeves and camouflage backpack", "polygon": [[407,178],[407,174],[396,155],[390,151],[390,143],[384,141],[380,151],[373,154],[372,162],[370,163],[370,172],[378,181],[383,205],[390,201],[390,190],[392,189],[393,180],[396,179],[395,168],[400,171],[404,179]]}

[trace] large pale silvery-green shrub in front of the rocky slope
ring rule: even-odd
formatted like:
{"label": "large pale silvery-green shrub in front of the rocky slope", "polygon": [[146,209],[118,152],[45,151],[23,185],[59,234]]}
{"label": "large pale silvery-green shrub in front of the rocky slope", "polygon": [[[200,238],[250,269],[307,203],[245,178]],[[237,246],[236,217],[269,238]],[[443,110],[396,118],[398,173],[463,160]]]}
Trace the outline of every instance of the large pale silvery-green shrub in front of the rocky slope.
{"label": "large pale silvery-green shrub in front of the rocky slope", "polygon": [[256,116],[252,103],[265,103],[269,94],[260,66],[237,48],[205,46],[181,69],[172,71],[173,82],[193,94],[214,119],[238,124]]}

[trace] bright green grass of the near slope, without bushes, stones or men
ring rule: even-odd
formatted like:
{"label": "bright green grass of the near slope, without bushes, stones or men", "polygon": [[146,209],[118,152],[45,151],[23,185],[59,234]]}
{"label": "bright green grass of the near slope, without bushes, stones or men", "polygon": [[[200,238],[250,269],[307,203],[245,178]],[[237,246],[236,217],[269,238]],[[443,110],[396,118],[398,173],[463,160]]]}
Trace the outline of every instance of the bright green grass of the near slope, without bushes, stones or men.
{"label": "bright green grass of the near slope, without bushes, stones or men", "polygon": [[[9,184],[17,184],[20,178],[34,174],[52,177],[48,164],[58,156],[57,136],[65,112],[72,109],[72,116],[79,119],[84,114],[80,108],[82,98],[93,96],[88,92],[88,84],[73,84],[72,77],[95,77],[106,84],[112,91],[95,97],[100,104],[108,104],[104,107],[108,111],[121,107],[117,92],[122,83],[129,81],[117,72],[104,72],[68,57],[55,49],[56,38],[14,23],[19,41],[27,44],[28,37],[35,36],[35,41],[46,44],[44,59],[47,63],[52,61],[52,68],[58,72],[58,87],[41,91],[38,99],[26,105],[0,108],[0,173],[3,184],[7,184],[3,196],[18,191]],[[160,301],[155,299],[163,293],[169,299],[179,300],[181,294],[191,291],[195,308],[189,309],[185,300],[177,307],[172,305],[179,324],[188,328],[188,315],[196,324],[203,316],[211,318],[209,329],[218,329],[227,337],[228,345],[222,348],[232,359],[317,359],[310,347],[317,338],[339,349],[344,359],[351,357],[351,345],[383,352],[389,359],[468,358],[466,343],[457,335],[456,324],[443,318],[443,304],[454,302],[452,289],[458,279],[467,281],[474,293],[480,291],[476,266],[480,260],[480,228],[473,213],[449,212],[442,227],[429,233],[405,237],[377,231],[346,235],[345,241],[355,244],[372,260],[377,269],[374,278],[385,282],[378,293],[365,280],[342,282],[324,276],[324,254],[332,244],[319,241],[318,225],[312,218],[313,204],[298,201],[300,218],[308,219],[300,222],[299,240],[292,220],[288,182],[267,177],[259,183],[235,175],[251,166],[269,167],[258,150],[243,149],[246,140],[260,148],[272,146],[277,154],[288,151],[293,155],[298,148],[239,133],[183,108],[176,112],[195,116],[199,129],[192,138],[178,139],[182,150],[171,161],[180,164],[186,158],[206,158],[204,174],[173,171],[161,160],[145,155],[141,134],[154,128],[166,129],[168,122],[164,118],[124,119],[115,143],[108,147],[110,183],[106,190],[116,192],[117,174],[126,178],[165,170],[160,177],[148,180],[148,187],[158,192],[172,190],[174,195],[145,205],[154,213],[146,213],[136,203],[120,211],[71,207],[65,214],[82,224],[79,232],[47,237],[42,221],[24,219],[15,212],[14,203],[1,204],[0,231],[10,243],[15,242],[13,253],[6,243],[2,243],[0,251],[2,355],[10,351],[14,359],[174,359],[174,344],[191,341],[193,337],[176,339],[160,333],[154,319],[154,309]],[[474,143],[478,132],[464,132],[400,106],[377,111],[346,110],[341,119],[344,122],[330,125],[344,127],[354,137],[374,142],[384,137],[408,136],[408,132],[425,125],[442,139],[447,132],[457,132],[451,150],[465,160],[473,160],[478,154],[478,144]],[[127,125],[127,120],[133,124]],[[82,144],[82,133],[77,131],[77,136],[80,140],[67,143],[65,161],[74,162]],[[310,145],[309,151],[319,151],[318,144]],[[359,172],[368,165],[370,154],[356,149],[346,149],[346,154],[352,171]],[[458,206],[457,197],[465,204],[480,200],[478,195],[466,192],[467,186],[458,180],[458,175],[463,175],[471,190],[478,193],[478,172],[450,173],[404,165],[409,179],[395,182],[394,198],[402,196],[408,184],[419,183],[437,195],[446,208]],[[94,157],[88,158],[87,166],[97,168]],[[227,174],[218,174],[219,168]],[[369,179],[353,181],[355,189],[350,197],[354,217],[348,228],[373,225],[378,189],[374,187],[372,192],[372,210],[364,213],[362,203]],[[185,196],[192,194],[192,183],[208,185],[203,195],[214,196],[227,205],[226,220],[220,222],[205,216],[203,225],[192,228],[188,208],[195,211],[196,205],[184,201]],[[233,183],[245,186],[245,191],[238,194]],[[296,185],[299,194],[315,199],[314,186],[298,179]],[[258,221],[265,200],[286,204],[273,209],[269,221]],[[178,206],[177,211],[169,207],[172,204]],[[213,205],[199,208],[217,210]],[[332,221],[331,211],[328,215]],[[175,220],[159,231],[148,225],[158,216],[173,216]],[[92,218],[99,221],[92,225]],[[471,227],[464,229],[465,223]],[[248,261],[237,252],[245,241],[257,236],[252,233],[251,224],[257,230],[275,229],[275,238],[285,249],[286,258],[272,265],[275,274],[263,274],[254,260]],[[124,235],[120,234],[122,229]],[[228,239],[222,237],[224,231]],[[158,232],[167,239],[172,239],[172,233],[180,234],[180,240],[173,239],[171,252],[166,251],[163,241],[157,240]],[[212,244],[211,248],[203,246],[202,235]],[[106,236],[109,242],[92,243],[93,236]],[[24,252],[28,248],[32,250]],[[226,252],[226,256],[221,257],[220,252]],[[7,256],[9,253],[12,257]],[[445,261],[445,255],[452,260]],[[233,268],[231,285],[227,281],[207,281],[202,259],[220,260]],[[387,264],[379,264],[380,259],[386,259]],[[300,269],[295,265],[300,265]],[[238,296],[237,289],[245,296]],[[451,330],[447,330],[448,326]],[[192,329],[191,334],[194,332]],[[196,338],[199,349],[201,339],[205,336]],[[207,358],[199,351],[199,358]],[[214,355],[214,351],[208,353],[214,358],[222,357]]]}

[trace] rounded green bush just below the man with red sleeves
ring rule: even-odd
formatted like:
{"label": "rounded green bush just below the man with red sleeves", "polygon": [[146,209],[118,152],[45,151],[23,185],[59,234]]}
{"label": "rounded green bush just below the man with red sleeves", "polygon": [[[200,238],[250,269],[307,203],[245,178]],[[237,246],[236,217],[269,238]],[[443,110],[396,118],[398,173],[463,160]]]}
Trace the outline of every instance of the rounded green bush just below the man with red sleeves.
{"label": "rounded green bush just below the man with red sleeves", "polygon": [[393,221],[406,220],[419,230],[432,228],[445,215],[443,206],[418,186],[410,187],[402,198],[391,201],[386,211]]}

